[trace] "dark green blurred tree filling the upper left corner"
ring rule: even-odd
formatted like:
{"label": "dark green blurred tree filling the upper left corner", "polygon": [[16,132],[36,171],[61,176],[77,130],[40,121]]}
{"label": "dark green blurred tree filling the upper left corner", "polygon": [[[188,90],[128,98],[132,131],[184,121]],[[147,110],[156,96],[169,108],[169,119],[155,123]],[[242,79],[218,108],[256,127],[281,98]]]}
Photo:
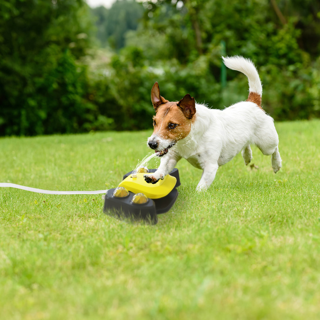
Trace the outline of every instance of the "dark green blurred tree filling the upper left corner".
{"label": "dark green blurred tree filling the upper left corner", "polygon": [[97,112],[76,64],[90,45],[83,0],[0,0],[0,134],[77,132]]}

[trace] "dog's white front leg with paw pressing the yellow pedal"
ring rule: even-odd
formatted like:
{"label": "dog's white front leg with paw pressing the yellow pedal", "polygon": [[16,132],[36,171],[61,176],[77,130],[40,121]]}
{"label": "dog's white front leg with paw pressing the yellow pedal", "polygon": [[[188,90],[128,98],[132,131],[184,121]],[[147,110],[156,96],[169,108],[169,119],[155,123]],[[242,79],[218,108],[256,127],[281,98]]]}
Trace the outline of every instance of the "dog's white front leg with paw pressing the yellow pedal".
{"label": "dog's white front leg with paw pressing the yellow pedal", "polygon": [[144,174],[144,179],[148,183],[156,183],[160,179],[163,179],[165,175],[170,173],[180,159],[181,157],[177,153],[170,150],[161,158],[159,168],[156,172]]}

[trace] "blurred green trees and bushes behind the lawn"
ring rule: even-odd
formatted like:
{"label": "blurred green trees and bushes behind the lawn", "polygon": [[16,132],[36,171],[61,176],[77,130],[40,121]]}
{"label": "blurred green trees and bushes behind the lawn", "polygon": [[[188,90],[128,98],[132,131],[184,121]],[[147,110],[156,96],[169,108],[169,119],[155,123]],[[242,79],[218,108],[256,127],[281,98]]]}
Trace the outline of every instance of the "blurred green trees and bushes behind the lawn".
{"label": "blurred green trees and bushes behind the lawn", "polygon": [[[151,126],[150,90],[223,108],[247,79],[221,55],[251,58],[276,120],[320,116],[320,3],[314,0],[0,0],[0,135]],[[225,43],[225,45],[223,45]],[[103,49],[101,49],[103,48]]]}

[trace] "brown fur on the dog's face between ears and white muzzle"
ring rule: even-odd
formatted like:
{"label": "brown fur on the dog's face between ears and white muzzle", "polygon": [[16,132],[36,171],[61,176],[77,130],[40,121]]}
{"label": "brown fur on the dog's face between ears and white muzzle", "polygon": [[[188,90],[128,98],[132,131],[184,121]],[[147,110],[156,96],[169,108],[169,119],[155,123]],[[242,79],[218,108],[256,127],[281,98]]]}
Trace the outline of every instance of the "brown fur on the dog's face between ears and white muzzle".
{"label": "brown fur on the dog's face between ears and white muzzle", "polygon": [[[163,139],[178,141],[187,137],[191,130],[191,120],[186,118],[177,102],[166,102],[159,106],[156,115],[153,134],[158,134]],[[174,129],[169,129],[169,124],[177,124]]]}

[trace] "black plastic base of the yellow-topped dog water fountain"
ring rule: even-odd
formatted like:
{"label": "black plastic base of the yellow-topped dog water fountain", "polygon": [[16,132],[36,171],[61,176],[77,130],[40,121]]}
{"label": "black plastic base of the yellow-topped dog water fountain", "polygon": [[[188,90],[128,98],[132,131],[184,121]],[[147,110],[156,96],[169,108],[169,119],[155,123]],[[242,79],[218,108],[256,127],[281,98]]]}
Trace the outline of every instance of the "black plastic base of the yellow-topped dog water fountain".
{"label": "black plastic base of the yellow-topped dog water fountain", "polygon": [[[155,172],[156,169],[150,169],[148,172]],[[124,175],[123,179],[127,178],[131,172]],[[172,205],[175,203],[178,197],[177,187],[180,186],[180,177],[178,169],[173,169],[169,173],[177,179],[174,188],[166,196],[159,199],[150,199],[143,204],[135,204],[132,202],[132,198],[135,195],[130,192],[129,195],[125,197],[115,197],[113,192],[116,188],[107,191],[104,200],[103,212],[108,215],[117,217],[119,219],[129,219],[129,220],[144,220],[151,224],[156,224],[158,222],[158,214],[165,213],[170,210]]]}

